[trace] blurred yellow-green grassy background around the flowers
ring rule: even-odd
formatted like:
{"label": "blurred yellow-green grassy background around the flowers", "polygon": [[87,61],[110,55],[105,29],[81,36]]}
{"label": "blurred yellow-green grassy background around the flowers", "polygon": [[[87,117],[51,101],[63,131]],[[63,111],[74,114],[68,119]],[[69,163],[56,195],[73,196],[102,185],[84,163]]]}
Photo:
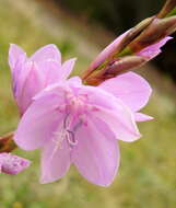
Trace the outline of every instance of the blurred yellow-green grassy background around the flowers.
{"label": "blurred yellow-green grassy background around the flowers", "polygon": [[[115,37],[101,25],[85,22],[49,1],[0,0],[1,135],[15,129],[19,122],[8,67],[9,43],[19,44],[28,54],[54,43],[63,59],[78,57],[78,74]],[[155,119],[139,125],[142,139],[120,142],[121,165],[110,187],[87,183],[74,167],[61,181],[40,185],[39,151],[16,150],[33,163],[17,176],[0,175],[0,208],[175,208],[176,86],[154,69],[148,65],[139,72],[153,88],[143,112]]]}

